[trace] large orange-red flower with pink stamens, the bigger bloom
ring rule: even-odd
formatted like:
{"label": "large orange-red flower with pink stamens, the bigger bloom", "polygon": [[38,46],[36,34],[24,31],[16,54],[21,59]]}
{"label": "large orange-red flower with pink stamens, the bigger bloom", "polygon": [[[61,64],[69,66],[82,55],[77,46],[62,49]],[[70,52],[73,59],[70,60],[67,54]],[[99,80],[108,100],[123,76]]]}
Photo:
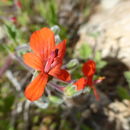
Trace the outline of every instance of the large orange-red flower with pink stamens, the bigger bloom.
{"label": "large orange-red flower with pink stamens, the bigger bloom", "polygon": [[24,55],[24,62],[38,70],[39,75],[27,86],[25,96],[35,101],[42,96],[49,75],[63,81],[71,78],[66,70],[61,69],[66,40],[56,45],[54,33],[49,28],[42,28],[32,34],[30,46],[33,52]]}

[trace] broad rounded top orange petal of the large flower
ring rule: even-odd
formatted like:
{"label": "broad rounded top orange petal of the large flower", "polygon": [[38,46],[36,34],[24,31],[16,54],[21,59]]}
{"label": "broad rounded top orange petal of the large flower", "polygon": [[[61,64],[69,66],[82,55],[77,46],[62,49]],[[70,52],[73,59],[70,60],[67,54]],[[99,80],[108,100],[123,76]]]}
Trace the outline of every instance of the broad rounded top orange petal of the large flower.
{"label": "broad rounded top orange petal of the large flower", "polygon": [[49,28],[35,31],[31,35],[30,46],[35,53],[47,58],[55,46],[54,33]]}

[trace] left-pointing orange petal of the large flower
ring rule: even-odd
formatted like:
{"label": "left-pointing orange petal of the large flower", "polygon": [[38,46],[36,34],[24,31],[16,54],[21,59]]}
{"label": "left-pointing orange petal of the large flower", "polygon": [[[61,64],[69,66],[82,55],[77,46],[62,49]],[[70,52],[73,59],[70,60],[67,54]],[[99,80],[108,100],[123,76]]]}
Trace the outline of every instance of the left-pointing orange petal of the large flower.
{"label": "left-pointing orange petal of the large flower", "polygon": [[24,63],[36,70],[43,70],[43,61],[40,56],[34,53],[26,53],[23,55]]}

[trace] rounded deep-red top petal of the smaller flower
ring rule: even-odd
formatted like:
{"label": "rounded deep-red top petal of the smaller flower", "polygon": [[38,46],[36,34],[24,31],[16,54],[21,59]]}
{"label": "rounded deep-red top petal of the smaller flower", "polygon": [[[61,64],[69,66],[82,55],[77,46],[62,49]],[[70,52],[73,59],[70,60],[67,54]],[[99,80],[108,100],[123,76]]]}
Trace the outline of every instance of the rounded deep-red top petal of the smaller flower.
{"label": "rounded deep-red top petal of the smaller flower", "polygon": [[84,63],[82,71],[87,77],[94,75],[96,71],[96,63],[93,60],[88,60]]}

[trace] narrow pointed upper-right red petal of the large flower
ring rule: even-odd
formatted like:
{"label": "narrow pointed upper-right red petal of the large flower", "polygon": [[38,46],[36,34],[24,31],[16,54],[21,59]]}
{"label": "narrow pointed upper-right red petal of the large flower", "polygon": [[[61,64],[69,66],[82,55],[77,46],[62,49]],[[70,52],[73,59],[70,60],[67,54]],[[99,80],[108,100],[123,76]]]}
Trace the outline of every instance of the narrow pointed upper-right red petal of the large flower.
{"label": "narrow pointed upper-right red petal of the large flower", "polygon": [[56,45],[55,48],[58,49],[58,57],[60,59],[63,59],[65,55],[65,51],[66,51],[66,40],[63,40],[62,42],[60,42],[58,45]]}

